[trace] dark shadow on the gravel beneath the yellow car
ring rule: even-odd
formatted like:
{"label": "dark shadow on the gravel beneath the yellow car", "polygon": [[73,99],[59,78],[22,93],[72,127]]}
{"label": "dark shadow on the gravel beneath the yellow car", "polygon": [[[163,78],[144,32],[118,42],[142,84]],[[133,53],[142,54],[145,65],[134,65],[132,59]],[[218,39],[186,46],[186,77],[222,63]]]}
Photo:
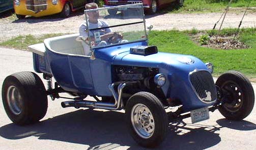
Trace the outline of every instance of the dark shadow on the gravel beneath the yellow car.
{"label": "dark shadow on the gravel beneath the yellow car", "polygon": [[[83,9],[77,10],[75,12],[72,12],[69,17],[74,17],[74,16],[81,16],[84,14]],[[24,19],[16,19],[12,21],[12,23],[20,23],[20,22],[27,22],[27,23],[39,23],[39,22],[44,22],[44,21],[61,21],[67,18],[63,18],[60,16],[60,14],[54,14],[54,15],[49,15],[49,16],[42,16],[42,17],[25,17]]]}

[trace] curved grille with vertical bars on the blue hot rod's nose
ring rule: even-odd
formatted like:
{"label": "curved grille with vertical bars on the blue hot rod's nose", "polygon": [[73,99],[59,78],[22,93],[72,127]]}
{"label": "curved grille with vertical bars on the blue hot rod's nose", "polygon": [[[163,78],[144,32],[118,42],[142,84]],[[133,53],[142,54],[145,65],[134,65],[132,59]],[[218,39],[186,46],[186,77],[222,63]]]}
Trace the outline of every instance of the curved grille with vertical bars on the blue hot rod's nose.
{"label": "curved grille with vertical bars on the blue hot rod's nose", "polygon": [[217,99],[217,92],[211,73],[202,70],[190,74],[190,81],[202,101],[211,102]]}

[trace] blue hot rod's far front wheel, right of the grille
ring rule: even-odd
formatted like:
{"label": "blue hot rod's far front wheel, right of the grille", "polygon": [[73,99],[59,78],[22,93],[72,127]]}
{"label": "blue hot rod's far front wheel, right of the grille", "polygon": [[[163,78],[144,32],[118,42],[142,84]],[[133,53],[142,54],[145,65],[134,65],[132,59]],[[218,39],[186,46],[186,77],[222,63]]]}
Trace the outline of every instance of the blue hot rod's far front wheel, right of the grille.
{"label": "blue hot rod's far front wheel, right of the grille", "polygon": [[216,81],[221,91],[220,113],[229,120],[243,120],[254,106],[254,92],[250,81],[238,71],[228,71]]}

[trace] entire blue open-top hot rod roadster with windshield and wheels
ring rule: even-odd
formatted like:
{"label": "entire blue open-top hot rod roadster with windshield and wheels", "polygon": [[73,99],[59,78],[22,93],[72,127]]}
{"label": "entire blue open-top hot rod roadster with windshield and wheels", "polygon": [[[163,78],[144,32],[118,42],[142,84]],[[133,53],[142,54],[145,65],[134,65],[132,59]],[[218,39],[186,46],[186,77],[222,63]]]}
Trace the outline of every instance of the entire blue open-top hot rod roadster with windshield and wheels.
{"label": "entire blue open-top hot rod roadster with windshield and wheels", "polygon": [[[112,16],[108,9],[123,11]],[[60,93],[72,96],[61,103],[64,108],[125,109],[131,136],[146,147],[164,140],[169,122],[189,117],[192,123],[207,120],[209,111],[216,109],[230,120],[250,114],[254,93],[242,73],[228,71],[214,83],[211,63],[148,46],[147,28],[152,26],[146,26],[143,5],[91,9],[85,14],[83,34],[52,37],[29,46],[34,69],[43,73],[47,89],[34,72],[17,72],[5,79],[3,104],[15,124],[42,119],[47,95],[54,100],[63,98]],[[90,14],[107,26],[90,25]],[[103,39],[106,30],[112,34]],[[88,95],[95,100],[87,100]],[[166,113],[170,106],[177,109]]]}

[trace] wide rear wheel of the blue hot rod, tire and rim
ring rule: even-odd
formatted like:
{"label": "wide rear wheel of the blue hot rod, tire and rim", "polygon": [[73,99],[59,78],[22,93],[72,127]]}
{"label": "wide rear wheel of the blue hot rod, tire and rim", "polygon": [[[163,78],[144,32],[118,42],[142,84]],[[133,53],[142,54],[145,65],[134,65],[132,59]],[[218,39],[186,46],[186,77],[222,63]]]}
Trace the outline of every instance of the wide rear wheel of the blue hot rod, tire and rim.
{"label": "wide rear wheel of the blue hot rod, tire and rim", "polygon": [[24,71],[8,76],[3,83],[2,99],[11,121],[18,125],[38,122],[47,111],[47,95],[36,73]]}

